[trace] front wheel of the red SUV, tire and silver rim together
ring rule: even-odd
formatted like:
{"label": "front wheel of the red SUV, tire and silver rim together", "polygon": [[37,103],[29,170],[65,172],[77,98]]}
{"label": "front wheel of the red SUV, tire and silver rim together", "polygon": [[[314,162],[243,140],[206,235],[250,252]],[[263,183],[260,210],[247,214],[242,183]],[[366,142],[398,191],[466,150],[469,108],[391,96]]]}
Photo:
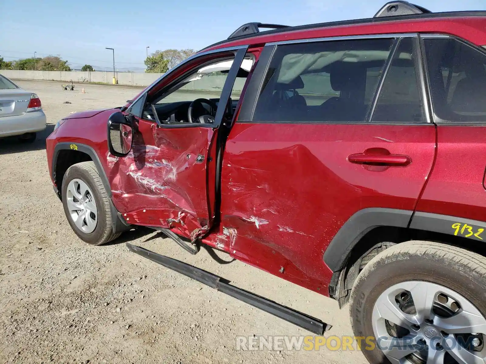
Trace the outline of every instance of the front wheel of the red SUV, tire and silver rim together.
{"label": "front wheel of the red SUV, tire and silver rim together", "polygon": [[64,212],[72,230],[91,245],[116,239],[113,233],[116,216],[112,216],[110,198],[93,162],[71,165],[62,182]]}

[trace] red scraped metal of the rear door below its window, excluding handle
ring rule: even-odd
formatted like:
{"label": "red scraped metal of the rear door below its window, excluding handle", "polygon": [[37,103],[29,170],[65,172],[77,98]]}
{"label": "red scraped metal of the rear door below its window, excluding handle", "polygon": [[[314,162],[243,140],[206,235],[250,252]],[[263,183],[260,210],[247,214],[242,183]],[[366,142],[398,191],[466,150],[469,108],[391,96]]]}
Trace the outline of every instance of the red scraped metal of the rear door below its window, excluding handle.
{"label": "red scraped metal of the rear door below its window, excluding handle", "polygon": [[[235,124],[222,181],[222,225],[235,234],[231,253],[322,289],[331,275],[322,260],[330,240],[359,210],[413,211],[434,146],[432,124]],[[369,148],[412,163],[376,171],[347,161]]]}

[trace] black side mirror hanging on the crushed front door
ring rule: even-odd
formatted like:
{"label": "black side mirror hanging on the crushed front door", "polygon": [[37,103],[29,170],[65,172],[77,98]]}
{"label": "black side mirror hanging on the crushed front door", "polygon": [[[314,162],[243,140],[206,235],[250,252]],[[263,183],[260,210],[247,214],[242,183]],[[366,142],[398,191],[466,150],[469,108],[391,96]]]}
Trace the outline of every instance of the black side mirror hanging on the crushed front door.
{"label": "black side mirror hanging on the crushed front door", "polygon": [[108,118],[108,149],[117,157],[124,157],[132,149],[133,127],[120,112]]}

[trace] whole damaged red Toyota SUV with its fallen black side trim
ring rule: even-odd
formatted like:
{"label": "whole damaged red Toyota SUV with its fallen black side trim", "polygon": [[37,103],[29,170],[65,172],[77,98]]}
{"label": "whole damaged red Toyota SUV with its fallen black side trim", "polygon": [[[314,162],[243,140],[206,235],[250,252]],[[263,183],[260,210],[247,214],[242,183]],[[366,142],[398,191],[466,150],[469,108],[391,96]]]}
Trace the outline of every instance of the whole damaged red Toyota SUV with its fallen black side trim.
{"label": "whole damaged red Toyota SUV with its fallen black side trim", "polygon": [[125,106],[59,121],[54,190],[89,244],[147,226],[350,301],[370,363],[485,363],[485,45],[486,12],[404,1],[371,19],[245,24]]}

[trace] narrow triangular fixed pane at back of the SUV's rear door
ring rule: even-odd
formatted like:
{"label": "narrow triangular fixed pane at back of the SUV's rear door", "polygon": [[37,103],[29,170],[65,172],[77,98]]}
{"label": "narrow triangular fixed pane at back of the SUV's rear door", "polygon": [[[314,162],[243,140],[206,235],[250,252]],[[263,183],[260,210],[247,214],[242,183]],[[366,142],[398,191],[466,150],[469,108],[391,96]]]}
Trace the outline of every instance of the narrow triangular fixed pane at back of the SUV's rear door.
{"label": "narrow triangular fixed pane at back of the SUV's rear door", "polygon": [[423,123],[414,38],[400,40],[386,72],[372,122]]}

